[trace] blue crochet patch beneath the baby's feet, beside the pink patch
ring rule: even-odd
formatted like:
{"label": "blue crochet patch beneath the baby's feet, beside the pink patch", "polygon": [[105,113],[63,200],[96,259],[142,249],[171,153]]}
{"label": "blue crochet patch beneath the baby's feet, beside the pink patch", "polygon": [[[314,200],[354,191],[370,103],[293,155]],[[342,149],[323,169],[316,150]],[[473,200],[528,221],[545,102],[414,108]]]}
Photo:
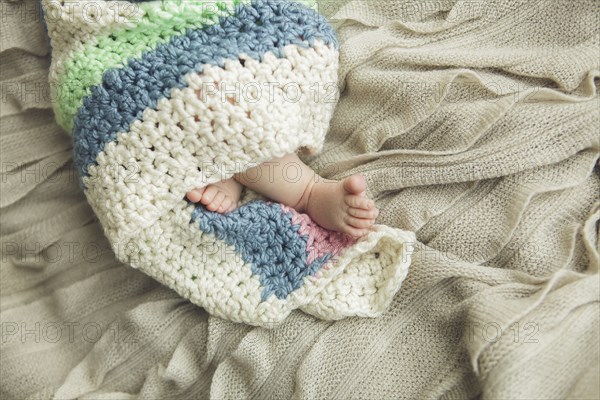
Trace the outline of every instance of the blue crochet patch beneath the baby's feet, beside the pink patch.
{"label": "blue crochet patch beneath the baby's feet, beside the pink patch", "polygon": [[285,299],[300,288],[306,276],[314,275],[329,261],[331,254],[308,265],[307,237],[300,235],[299,224],[278,203],[254,200],[229,214],[219,214],[198,205],[192,221],[200,229],[235,247],[242,259],[252,265],[252,273],[263,287],[262,301],[271,294]]}

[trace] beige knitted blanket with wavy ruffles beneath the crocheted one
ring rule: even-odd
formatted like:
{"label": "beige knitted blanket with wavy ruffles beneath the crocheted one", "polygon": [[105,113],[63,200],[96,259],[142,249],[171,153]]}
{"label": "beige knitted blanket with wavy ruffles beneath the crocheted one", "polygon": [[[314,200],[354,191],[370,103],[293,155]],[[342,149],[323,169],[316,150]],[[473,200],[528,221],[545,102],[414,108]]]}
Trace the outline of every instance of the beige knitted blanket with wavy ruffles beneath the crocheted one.
{"label": "beige knitted blanket with wavy ruffles beneath the crocheted one", "polygon": [[344,91],[307,161],[418,244],[382,317],[271,330],[116,261],[35,2],[1,6],[1,398],[600,397],[597,1],[322,3]]}

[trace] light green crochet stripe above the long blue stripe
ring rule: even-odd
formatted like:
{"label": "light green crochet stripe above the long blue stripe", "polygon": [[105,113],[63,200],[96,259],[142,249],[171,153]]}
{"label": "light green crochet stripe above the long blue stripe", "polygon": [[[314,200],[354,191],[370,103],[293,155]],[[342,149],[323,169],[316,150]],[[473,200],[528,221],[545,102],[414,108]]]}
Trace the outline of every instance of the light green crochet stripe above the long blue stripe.
{"label": "light green crochet stripe above the long blue stripe", "polygon": [[[309,0],[313,1],[313,0]],[[168,0],[139,3],[143,16],[133,28],[100,35],[84,43],[83,50],[65,61],[58,74],[61,95],[55,109],[58,123],[69,133],[83,99],[91,88],[102,83],[104,72],[123,67],[130,59],[183,35],[189,28],[200,29],[232,15],[237,4],[250,0],[198,1]]]}

